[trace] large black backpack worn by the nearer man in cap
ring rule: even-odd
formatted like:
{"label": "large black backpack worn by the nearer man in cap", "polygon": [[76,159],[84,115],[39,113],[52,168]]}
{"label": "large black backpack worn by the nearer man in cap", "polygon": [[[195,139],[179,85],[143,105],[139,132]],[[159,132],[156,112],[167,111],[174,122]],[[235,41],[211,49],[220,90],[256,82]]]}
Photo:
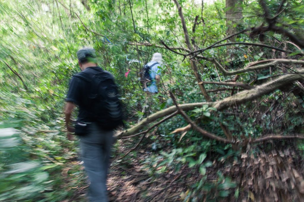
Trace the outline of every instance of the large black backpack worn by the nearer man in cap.
{"label": "large black backpack worn by the nearer man in cap", "polygon": [[90,102],[86,109],[90,119],[98,122],[104,130],[113,130],[123,125],[123,107],[114,77],[101,68],[89,70],[75,76],[90,82]]}

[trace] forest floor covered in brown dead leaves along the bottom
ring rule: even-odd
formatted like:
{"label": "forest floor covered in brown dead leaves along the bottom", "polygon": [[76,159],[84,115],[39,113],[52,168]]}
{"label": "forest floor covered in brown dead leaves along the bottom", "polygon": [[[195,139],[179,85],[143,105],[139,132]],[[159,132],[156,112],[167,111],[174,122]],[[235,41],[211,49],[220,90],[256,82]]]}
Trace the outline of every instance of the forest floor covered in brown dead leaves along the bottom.
{"label": "forest floor covered in brown dead leaves along the bottom", "polygon": [[[302,151],[295,149],[295,143],[276,148],[268,152],[253,152],[248,145],[246,151],[239,157],[226,160],[212,159],[212,165],[203,176],[198,170],[181,167],[176,172],[168,168],[161,174],[164,166],[148,165],[147,159],[155,153],[152,144],[144,142],[119,159],[133,147],[132,141],[118,140],[118,148],[114,152],[108,176],[108,191],[110,201],[303,201],[303,159]],[[166,148],[170,150],[171,148]],[[117,154],[121,155],[117,155]],[[84,172],[69,172],[75,166],[83,169],[80,160],[73,160],[62,170],[61,175],[67,179],[65,189],[74,189],[74,197],[67,201],[86,201]],[[155,168],[151,173],[149,167]],[[168,166],[169,167],[169,166]],[[72,186],[75,174],[83,179],[81,185]]]}

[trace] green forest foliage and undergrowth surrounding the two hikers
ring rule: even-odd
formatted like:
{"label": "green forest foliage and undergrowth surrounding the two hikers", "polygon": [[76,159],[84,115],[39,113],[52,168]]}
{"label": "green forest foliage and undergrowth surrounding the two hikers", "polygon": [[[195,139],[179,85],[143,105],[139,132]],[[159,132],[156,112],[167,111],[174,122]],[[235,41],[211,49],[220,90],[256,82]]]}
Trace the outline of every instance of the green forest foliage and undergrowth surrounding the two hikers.
{"label": "green forest foliage and undergrowth surrounding the two hikers", "polygon": [[[244,1],[240,5],[244,19],[237,29],[257,27],[264,22],[258,2]],[[95,48],[98,64],[115,76],[126,106],[127,128],[145,116],[141,111],[147,103],[152,113],[172,106],[169,90],[179,103],[206,101],[188,59],[183,61],[182,56],[153,45],[130,44],[160,45],[162,40],[172,47],[185,47],[184,32],[173,1],[130,1],[133,17],[126,0],[88,0],[87,3],[90,11],[80,0],[0,2],[0,201],[85,201],[83,195],[76,196],[77,190],[71,188],[85,186],[85,174],[82,165],[75,163],[81,161],[77,141],[66,139],[63,114],[69,80],[80,71],[75,53],[81,47]],[[181,0],[179,3],[196,46],[207,47],[226,36],[225,1],[208,1],[203,8],[200,1]],[[304,29],[302,4],[300,0],[288,1],[277,23],[300,37]],[[278,9],[278,1],[268,1],[267,5],[271,11]],[[199,23],[193,32],[196,15]],[[278,33],[268,32],[264,42],[280,47],[286,40]],[[235,41],[259,42],[246,33],[237,35]],[[285,44],[291,52],[299,52],[294,45]],[[161,87],[159,93],[147,96],[142,92],[138,77],[154,52],[161,52],[164,58]],[[204,57],[219,59],[229,70],[253,61],[282,57],[271,49],[247,45],[234,46],[230,54],[233,59],[223,46],[208,49]],[[299,55],[288,57],[302,59]],[[141,62],[130,62],[132,59]],[[203,81],[233,79],[233,76],[224,76],[210,62],[201,60],[197,64]],[[128,69],[131,71],[126,78]],[[279,68],[242,73],[238,81],[259,85],[281,73]],[[205,87],[214,89],[211,84]],[[231,91],[210,92],[213,100],[230,95]],[[188,115],[195,120],[204,115],[198,124],[223,137],[220,123],[227,126],[233,136],[241,138],[304,132],[303,100],[277,90],[257,102],[259,104],[246,103],[216,113],[210,113],[212,108],[204,105]],[[280,119],[277,119],[278,113],[282,114]],[[217,169],[216,180],[210,182],[206,171],[213,160],[225,162],[231,157],[239,158],[241,148],[233,150],[231,145],[206,139],[193,130],[183,138],[179,133],[171,133],[186,125],[181,116],[162,123],[157,133],[143,142],[152,153],[141,163],[154,178],[170,169],[179,172],[184,165],[199,172],[200,180],[193,182],[184,201],[200,201],[203,197],[213,197],[213,201],[217,201],[228,196],[237,199],[241,190],[233,179]],[[115,150],[119,146],[116,144]],[[302,146],[299,143],[299,147]],[[115,152],[115,155],[123,156],[123,153]],[[218,194],[215,196],[210,194],[212,192]]]}

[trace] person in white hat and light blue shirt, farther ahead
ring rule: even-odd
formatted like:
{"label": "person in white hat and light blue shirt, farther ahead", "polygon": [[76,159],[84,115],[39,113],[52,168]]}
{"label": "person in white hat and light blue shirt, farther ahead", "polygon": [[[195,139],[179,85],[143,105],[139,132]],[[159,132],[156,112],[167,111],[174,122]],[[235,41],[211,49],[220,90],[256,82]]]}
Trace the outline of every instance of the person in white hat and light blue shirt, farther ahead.
{"label": "person in white hat and light blue shirt, farther ahead", "polygon": [[163,64],[163,58],[161,56],[161,53],[159,52],[154,53],[151,61],[147,63],[147,65],[151,67],[150,76],[152,78],[152,81],[147,85],[147,87],[143,89],[144,91],[148,91],[150,93],[158,93],[157,84],[159,83],[161,78],[162,64]]}

